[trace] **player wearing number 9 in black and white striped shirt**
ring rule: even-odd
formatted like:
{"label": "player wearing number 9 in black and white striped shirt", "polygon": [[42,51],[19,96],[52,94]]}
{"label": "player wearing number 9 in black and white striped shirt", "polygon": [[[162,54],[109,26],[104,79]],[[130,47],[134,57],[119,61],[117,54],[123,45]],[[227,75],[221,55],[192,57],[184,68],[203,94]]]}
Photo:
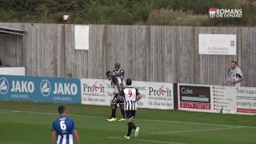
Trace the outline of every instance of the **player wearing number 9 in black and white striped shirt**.
{"label": "player wearing number 9 in black and white striped shirt", "polygon": [[125,112],[128,124],[128,134],[125,138],[130,139],[131,130],[135,130],[135,137],[138,137],[139,127],[135,126],[134,118],[137,110],[137,102],[142,98],[141,94],[138,93],[138,89],[131,86],[131,79],[126,79],[126,88],[124,88],[120,95],[123,96],[125,102]]}

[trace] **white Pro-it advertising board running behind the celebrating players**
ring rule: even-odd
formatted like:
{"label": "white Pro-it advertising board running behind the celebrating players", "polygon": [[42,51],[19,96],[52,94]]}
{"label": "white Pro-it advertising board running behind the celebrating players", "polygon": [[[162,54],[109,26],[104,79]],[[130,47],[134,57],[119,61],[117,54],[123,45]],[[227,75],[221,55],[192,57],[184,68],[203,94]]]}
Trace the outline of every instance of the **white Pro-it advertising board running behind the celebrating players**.
{"label": "white Pro-it advertising board running behind the celebrating players", "polygon": [[[142,94],[138,102],[140,108],[150,109],[174,109],[174,93],[172,83],[163,82],[138,82],[134,81],[133,86]],[[110,106],[114,89],[110,81],[103,79],[81,80],[82,104]]]}

